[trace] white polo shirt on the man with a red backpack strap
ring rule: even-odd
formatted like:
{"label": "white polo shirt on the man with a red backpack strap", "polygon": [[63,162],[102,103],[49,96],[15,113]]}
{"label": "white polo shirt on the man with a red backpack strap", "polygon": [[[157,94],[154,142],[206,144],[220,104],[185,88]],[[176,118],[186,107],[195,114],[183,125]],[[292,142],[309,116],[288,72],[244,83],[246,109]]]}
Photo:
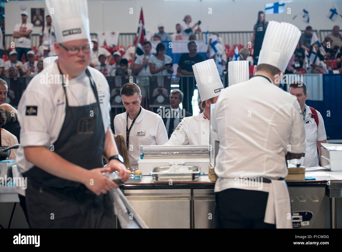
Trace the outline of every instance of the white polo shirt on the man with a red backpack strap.
{"label": "white polo shirt on the man with a red backpack strap", "polygon": [[[324,121],[322,115],[316,110],[318,116],[318,128],[315,119],[312,117],[312,111],[308,105],[305,104],[305,119],[304,129],[306,136],[306,149],[304,157],[305,167],[318,166],[317,156],[317,141],[323,141],[327,139],[325,133]],[[302,116],[303,118],[303,116]]]}

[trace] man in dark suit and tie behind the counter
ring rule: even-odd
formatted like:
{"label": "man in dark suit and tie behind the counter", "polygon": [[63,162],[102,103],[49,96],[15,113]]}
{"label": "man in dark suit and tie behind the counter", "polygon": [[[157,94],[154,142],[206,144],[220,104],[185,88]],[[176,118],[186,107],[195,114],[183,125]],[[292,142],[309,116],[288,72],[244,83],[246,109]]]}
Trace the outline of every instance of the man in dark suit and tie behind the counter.
{"label": "man in dark suit and tie behind the counter", "polygon": [[[179,89],[174,89],[170,94],[170,108],[165,108],[165,116],[162,116],[168,137],[170,139],[172,132],[184,117],[192,116],[185,109],[181,110],[179,104],[183,101],[184,93]],[[171,127],[170,127],[171,125]]]}

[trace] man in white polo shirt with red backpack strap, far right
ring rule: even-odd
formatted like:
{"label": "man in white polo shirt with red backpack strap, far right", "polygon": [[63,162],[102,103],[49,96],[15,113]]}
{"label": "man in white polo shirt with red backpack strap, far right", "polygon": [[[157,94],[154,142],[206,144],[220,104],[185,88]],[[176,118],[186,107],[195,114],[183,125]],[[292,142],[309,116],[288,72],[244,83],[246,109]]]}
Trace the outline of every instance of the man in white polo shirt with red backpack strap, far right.
{"label": "man in white polo shirt with red backpack strap, far right", "polygon": [[[306,150],[304,159],[305,167],[318,166],[318,160],[321,156],[321,143],[327,143],[324,121],[322,115],[312,107],[305,104],[307,99],[307,88],[303,81],[297,80],[289,84],[289,93],[297,97],[301,108],[306,138]],[[319,157],[317,157],[317,146]]]}

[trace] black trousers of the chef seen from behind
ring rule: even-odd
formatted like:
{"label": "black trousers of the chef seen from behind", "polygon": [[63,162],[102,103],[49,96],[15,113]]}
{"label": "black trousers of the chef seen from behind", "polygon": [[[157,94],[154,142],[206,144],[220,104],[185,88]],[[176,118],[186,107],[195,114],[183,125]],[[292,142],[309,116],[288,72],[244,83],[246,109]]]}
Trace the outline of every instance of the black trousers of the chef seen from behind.
{"label": "black trousers of the chef seen from behind", "polygon": [[276,228],[264,222],[268,192],[226,189],[215,193],[216,228]]}

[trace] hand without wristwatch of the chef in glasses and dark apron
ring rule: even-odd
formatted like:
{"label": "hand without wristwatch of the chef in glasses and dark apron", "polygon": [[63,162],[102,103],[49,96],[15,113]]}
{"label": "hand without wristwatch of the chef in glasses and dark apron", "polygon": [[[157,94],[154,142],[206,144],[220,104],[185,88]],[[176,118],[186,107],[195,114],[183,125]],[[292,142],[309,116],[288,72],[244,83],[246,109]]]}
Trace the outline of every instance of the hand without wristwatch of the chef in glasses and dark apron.
{"label": "hand without wristwatch of the chef in glasses and dark apron", "polygon": [[87,176],[83,184],[96,195],[106,194],[111,190],[111,187],[119,188],[117,184],[102,174],[109,171],[110,169],[103,167],[87,170]]}

